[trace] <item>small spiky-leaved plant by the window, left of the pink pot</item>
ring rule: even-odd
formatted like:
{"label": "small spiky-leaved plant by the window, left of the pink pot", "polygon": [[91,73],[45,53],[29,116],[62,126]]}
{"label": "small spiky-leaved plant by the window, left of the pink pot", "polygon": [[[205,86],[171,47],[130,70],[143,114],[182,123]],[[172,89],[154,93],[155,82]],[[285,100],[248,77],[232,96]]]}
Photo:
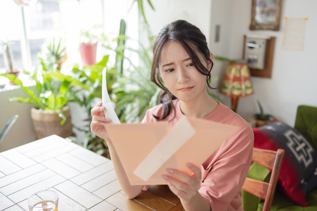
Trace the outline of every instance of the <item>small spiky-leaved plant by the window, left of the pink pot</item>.
{"label": "small spiky-leaved plant by the window, left of the pink pot", "polygon": [[49,52],[55,57],[57,63],[57,70],[60,70],[61,64],[64,63],[67,59],[66,47],[61,46],[62,39],[60,38],[58,44],[55,44],[55,38],[47,46]]}

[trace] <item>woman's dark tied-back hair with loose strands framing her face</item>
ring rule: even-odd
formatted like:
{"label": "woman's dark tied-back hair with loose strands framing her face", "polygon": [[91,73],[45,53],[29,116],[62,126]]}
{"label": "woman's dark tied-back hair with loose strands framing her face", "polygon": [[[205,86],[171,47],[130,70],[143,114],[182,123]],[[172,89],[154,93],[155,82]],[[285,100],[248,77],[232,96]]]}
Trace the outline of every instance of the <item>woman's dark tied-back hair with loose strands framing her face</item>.
{"label": "woman's dark tied-back hair with loose strands framing her face", "polygon": [[[162,48],[168,41],[175,41],[179,43],[189,54],[193,61],[195,68],[203,75],[207,76],[207,84],[210,86],[211,82],[211,69],[213,62],[210,59],[210,51],[207,46],[206,37],[199,28],[185,20],[177,20],[170,24],[165,25],[159,32],[158,37],[155,39],[153,47],[153,62],[151,70],[151,81],[154,82],[163,91],[159,95],[159,104],[163,104],[163,113],[161,116],[153,115],[156,119],[161,120],[166,118],[171,109],[175,111],[172,100],[177,99],[172,95],[159,79],[159,61]],[[199,59],[197,53],[201,53],[205,61],[211,61],[211,69],[208,70]],[[174,118],[176,116],[176,112]]]}

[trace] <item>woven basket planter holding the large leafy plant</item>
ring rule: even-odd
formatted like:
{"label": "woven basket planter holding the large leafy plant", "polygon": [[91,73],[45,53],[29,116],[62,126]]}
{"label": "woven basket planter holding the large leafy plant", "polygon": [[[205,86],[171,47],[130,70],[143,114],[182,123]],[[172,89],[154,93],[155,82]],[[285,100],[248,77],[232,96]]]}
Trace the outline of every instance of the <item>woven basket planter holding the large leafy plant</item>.
{"label": "woven basket planter holding the large leafy plant", "polygon": [[53,134],[63,138],[73,134],[69,106],[64,106],[62,112],[66,116],[66,121],[63,125],[60,125],[62,118],[53,110],[31,108],[31,118],[33,120],[36,140]]}

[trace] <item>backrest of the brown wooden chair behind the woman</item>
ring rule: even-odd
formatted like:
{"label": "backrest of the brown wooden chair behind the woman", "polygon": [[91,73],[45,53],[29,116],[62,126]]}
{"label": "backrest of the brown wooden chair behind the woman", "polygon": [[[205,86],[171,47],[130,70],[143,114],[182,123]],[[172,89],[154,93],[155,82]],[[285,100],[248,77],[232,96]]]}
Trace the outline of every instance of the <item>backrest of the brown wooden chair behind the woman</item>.
{"label": "backrest of the brown wooden chair behind the woman", "polygon": [[283,158],[284,150],[282,149],[278,149],[277,152],[258,148],[253,149],[252,161],[272,169],[271,177],[269,183],[246,178],[242,190],[264,199],[263,211],[269,211],[271,208]]}

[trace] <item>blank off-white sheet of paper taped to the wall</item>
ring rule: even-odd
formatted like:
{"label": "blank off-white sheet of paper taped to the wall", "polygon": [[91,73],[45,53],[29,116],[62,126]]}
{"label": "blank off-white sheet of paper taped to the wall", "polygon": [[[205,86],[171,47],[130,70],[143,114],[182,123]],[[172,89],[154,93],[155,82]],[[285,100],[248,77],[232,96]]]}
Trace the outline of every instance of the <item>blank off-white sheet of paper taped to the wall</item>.
{"label": "blank off-white sheet of paper taped to the wall", "polygon": [[303,51],[308,18],[286,18],[282,49]]}

